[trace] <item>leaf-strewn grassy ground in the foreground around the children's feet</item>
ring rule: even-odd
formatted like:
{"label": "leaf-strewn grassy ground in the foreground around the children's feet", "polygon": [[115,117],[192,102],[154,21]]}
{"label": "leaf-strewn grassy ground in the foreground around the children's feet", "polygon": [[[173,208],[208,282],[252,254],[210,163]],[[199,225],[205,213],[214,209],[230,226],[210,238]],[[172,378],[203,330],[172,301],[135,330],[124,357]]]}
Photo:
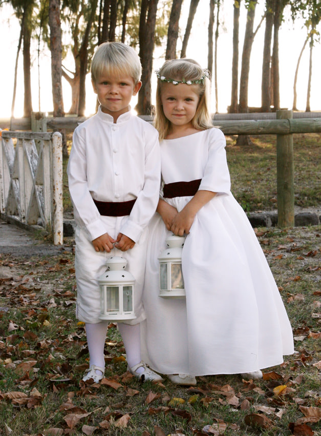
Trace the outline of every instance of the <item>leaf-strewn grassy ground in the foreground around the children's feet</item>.
{"label": "leaf-strewn grassy ground in the foreground around the children's feet", "polygon": [[[296,352],[264,379],[198,377],[140,384],[126,370],[114,324],[105,378],[88,365],[84,326],[75,320],[73,240],[60,254],[0,255],[0,432],[25,436],[263,436],[319,434],[320,227],[255,230],[293,328]],[[213,351],[215,359],[215,351]]]}

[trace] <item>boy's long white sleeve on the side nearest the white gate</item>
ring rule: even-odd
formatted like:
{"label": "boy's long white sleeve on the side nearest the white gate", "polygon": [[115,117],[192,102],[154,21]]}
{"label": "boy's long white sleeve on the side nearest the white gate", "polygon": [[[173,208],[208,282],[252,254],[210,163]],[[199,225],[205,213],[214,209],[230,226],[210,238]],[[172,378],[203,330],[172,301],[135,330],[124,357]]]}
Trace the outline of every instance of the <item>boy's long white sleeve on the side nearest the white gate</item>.
{"label": "boy's long white sleeve on the side nearest the white gate", "polygon": [[74,213],[81,225],[87,229],[93,241],[96,237],[104,234],[106,230],[88,188],[85,140],[77,129],[73,134],[67,174]]}

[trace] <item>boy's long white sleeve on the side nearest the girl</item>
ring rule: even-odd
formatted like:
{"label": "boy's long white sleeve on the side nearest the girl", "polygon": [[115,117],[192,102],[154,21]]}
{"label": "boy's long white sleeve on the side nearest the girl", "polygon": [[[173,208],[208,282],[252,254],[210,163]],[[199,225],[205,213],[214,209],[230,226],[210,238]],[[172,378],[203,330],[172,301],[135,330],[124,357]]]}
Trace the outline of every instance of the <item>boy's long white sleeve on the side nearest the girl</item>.
{"label": "boy's long white sleeve on the side nearest the girl", "polygon": [[151,220],[159,201],[161,168],[158,132],[154,128],[146,129],[145,141],[144,185],[137,196],[129,219],[120,230],[135,242],[139,240],[143,229]]}

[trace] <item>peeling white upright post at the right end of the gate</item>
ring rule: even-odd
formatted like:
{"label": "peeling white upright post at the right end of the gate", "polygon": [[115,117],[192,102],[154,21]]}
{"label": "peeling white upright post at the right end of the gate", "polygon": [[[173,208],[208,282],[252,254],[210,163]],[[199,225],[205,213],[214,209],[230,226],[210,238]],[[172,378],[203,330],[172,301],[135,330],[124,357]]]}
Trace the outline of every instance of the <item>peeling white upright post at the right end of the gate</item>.
{"label": "peeling white upright post at the right end of the gate", "polygon": [[53,179],[53,240],[54,245],[63,244],[62,206],[62,141],[61,133],[52,135],[52,179]]}

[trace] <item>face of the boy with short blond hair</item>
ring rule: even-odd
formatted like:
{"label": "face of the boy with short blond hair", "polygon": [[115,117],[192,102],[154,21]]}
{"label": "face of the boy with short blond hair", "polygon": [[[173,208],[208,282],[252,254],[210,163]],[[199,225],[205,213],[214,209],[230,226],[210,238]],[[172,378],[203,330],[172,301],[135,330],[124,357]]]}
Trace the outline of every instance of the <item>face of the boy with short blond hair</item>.
{"label": "face of the boy with short blond hair", "polygon": [[116,76],[113,74],[102,74],[94,82],[94,92],[97,94],[101,110],[114,117],[114,123],[122,113],[129,110],[129,104],[133,95],[140,90],[141,82],[134,83],[134,79],[126,74]]}

